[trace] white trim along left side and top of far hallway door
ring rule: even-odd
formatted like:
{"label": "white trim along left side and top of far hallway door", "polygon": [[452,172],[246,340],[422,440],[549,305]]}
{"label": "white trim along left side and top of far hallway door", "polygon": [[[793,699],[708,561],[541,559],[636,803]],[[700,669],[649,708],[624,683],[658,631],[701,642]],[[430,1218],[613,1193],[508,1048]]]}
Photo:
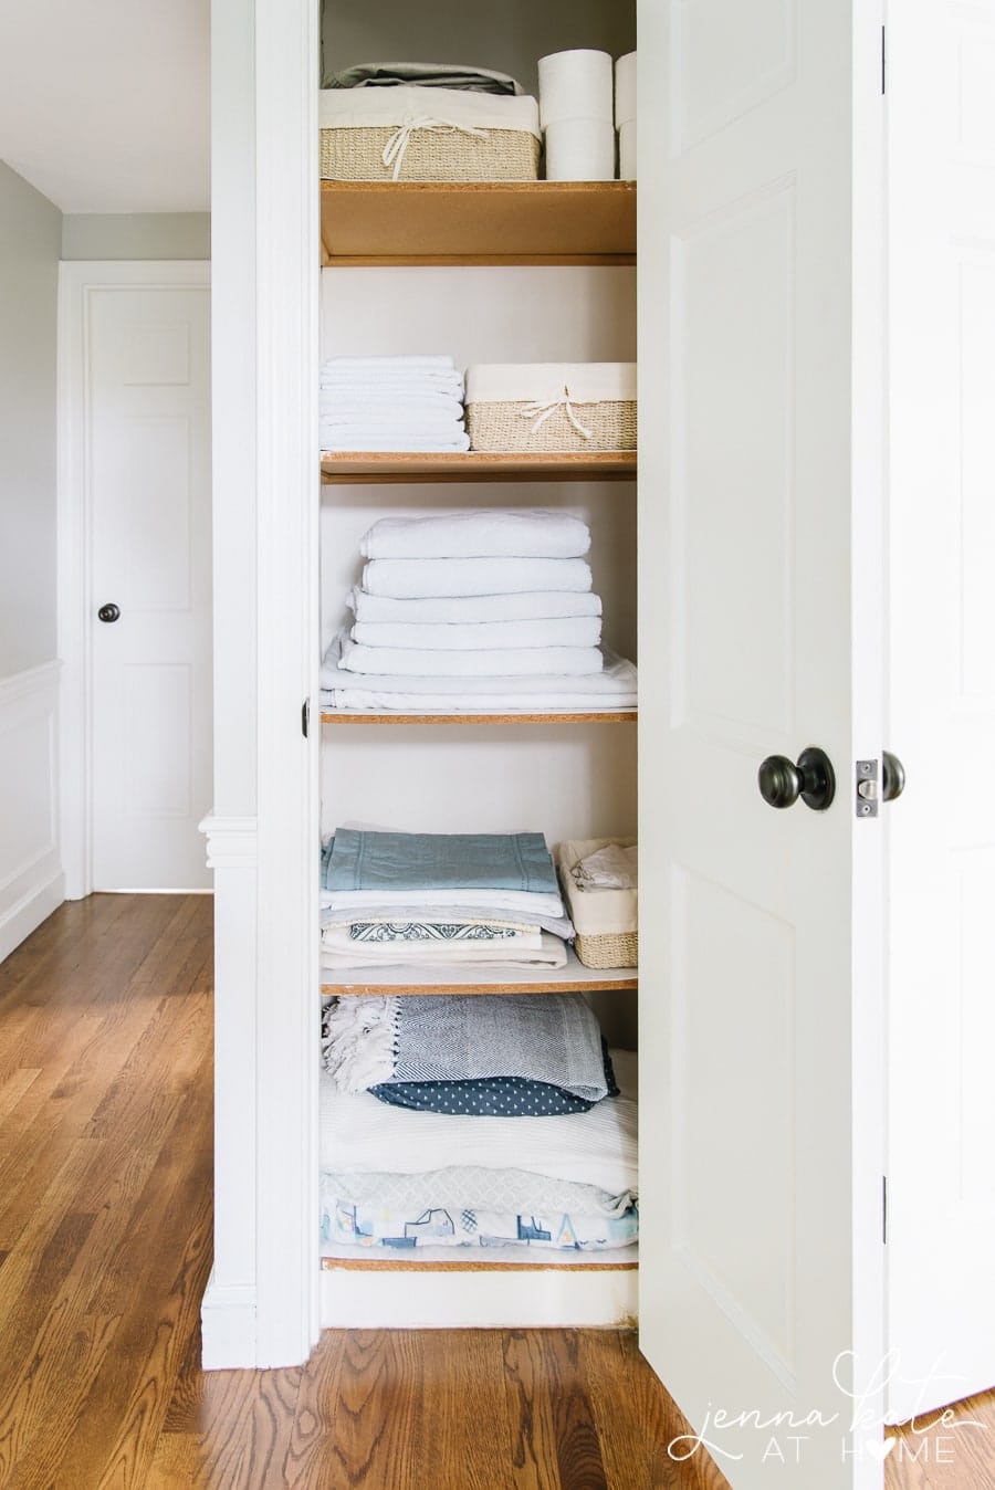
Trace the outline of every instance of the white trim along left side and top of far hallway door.
{"label": "white trim along left side and top of far hallway door", "polygon": [[58,276],[58,654],[63,660],[60,708],[60,818],[66,894],[79,900],[92,890],[91,872],[91,659],[89,627],[89,305],[94,291],[176,289],[210,285],[210,262],[74,261]]}

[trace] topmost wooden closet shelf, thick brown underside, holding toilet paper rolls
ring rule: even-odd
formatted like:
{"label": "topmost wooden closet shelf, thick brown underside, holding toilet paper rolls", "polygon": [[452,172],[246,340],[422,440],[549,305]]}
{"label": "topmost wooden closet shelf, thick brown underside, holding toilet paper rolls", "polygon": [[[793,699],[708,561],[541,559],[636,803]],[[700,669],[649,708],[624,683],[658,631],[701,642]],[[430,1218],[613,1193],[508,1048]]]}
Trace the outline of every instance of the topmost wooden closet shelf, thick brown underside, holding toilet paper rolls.
{"label": "topmost wooden closet shelf, thick brown underside, holding toilet paper rolls", "polygon": [[635,262],[635,182],[322,182],[326,267]]}

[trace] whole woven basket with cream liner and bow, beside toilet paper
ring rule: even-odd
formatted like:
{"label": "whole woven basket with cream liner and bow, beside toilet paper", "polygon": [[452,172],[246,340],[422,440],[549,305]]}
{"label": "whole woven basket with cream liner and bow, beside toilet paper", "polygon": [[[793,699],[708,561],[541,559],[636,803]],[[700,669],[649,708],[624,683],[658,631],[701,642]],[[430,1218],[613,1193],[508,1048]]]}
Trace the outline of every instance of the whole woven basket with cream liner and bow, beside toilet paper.
{"label": "whole woven basket with cream liner and bow, beside toilet paper", "polygon": [[456,88],[326,88],[322,180],[533,182],[539,106]]}

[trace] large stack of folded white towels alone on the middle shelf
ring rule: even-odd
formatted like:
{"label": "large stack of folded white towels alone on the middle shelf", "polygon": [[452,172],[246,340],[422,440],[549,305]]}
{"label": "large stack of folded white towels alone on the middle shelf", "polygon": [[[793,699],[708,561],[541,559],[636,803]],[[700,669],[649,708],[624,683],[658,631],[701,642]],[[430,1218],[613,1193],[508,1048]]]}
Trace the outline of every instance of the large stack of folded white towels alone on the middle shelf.
{"label": "large stack of folded white towels alone on the middle shelf", "polygon": [[600,647],[590,544],[568,513],[383,519],[362,541],[353,623],[325,656],[322,702],[426,714],[635,708],[635,668]]}

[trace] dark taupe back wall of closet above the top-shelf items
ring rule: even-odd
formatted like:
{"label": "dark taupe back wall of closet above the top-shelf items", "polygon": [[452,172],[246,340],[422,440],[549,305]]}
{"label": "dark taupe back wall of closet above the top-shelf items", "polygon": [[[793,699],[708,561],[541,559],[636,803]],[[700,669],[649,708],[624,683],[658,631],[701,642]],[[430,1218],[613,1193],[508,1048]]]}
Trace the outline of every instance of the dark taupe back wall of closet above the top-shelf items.
{"label": "dark taupe back wall of closet above the top-shelf items", "polygon": [[323,0],[323,73],[355,63],[469,63],[511,73],[536,91],[536,63],[548,52],[594,46],[612,57],[636,46],[633,0]]}

